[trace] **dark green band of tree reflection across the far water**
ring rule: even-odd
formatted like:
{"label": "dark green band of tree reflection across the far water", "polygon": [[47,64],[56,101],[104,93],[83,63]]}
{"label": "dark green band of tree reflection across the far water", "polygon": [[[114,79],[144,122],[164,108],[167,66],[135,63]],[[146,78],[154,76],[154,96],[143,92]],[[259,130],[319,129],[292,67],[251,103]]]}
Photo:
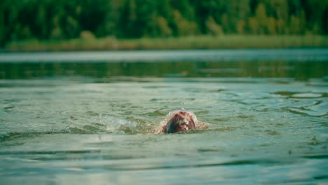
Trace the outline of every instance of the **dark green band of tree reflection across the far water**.
{"label": "dark green band of tree reflection across the far water", "polygon": [[328,78],[327,62],[93,62],[0,63],[0,78],[55,76]]}

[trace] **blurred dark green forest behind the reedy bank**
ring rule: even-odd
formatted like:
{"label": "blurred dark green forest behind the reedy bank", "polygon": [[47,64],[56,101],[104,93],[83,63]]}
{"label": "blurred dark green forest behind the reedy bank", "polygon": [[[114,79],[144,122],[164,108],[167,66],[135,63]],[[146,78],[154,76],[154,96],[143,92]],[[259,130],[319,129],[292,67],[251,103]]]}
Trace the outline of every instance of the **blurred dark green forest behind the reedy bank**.
{"label": "blurred dark green forest behind the reedy bank", "polygon": [[328,34],[327,0],[2,0],[0,44],[22,39]]}

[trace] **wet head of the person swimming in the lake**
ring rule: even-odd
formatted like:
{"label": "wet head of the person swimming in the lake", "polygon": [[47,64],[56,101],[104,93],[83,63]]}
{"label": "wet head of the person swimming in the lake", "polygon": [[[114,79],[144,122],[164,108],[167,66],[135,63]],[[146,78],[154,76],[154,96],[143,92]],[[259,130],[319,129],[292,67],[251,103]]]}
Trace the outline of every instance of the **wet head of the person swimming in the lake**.
{"label": "wet head of the person swimming in the lake", "polygon": [[170,114],[168,123],[166,123],[165,132],[183,132],[196,128],[197,118],[192,112],[184,109],[174,111]]}

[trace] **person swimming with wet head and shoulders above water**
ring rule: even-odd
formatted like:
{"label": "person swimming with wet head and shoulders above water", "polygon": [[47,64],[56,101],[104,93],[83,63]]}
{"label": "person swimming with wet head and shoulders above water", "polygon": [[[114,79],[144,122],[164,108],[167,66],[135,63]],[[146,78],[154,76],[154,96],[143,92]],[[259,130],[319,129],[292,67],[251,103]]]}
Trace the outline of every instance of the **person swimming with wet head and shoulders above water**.
{"label": "person swimming with wet head and shoulders above water", "polygon": [[158,134],[184,132],[193,129],[205,129],[210,125],[210,123],[198,121],[195,114],[182,108],[169,114],[167,123],[163,125]]}

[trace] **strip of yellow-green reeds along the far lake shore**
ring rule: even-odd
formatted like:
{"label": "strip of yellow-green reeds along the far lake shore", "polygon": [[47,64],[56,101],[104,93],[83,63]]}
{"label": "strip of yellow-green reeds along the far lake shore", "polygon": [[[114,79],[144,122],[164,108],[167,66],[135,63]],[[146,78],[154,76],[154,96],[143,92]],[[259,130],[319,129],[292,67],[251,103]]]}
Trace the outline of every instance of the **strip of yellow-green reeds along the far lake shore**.
{"label": "strip of yellow-green reeds along the far lake shore", "polygon": [[55,50],[173,50],[173,49],[223,49],[223,48],[323,48],[328,47],[328,36],[267,36],[224,35],[186,36],[162,39],[71,39],[63,41],[13,41],[5,51],[55,51]]}

